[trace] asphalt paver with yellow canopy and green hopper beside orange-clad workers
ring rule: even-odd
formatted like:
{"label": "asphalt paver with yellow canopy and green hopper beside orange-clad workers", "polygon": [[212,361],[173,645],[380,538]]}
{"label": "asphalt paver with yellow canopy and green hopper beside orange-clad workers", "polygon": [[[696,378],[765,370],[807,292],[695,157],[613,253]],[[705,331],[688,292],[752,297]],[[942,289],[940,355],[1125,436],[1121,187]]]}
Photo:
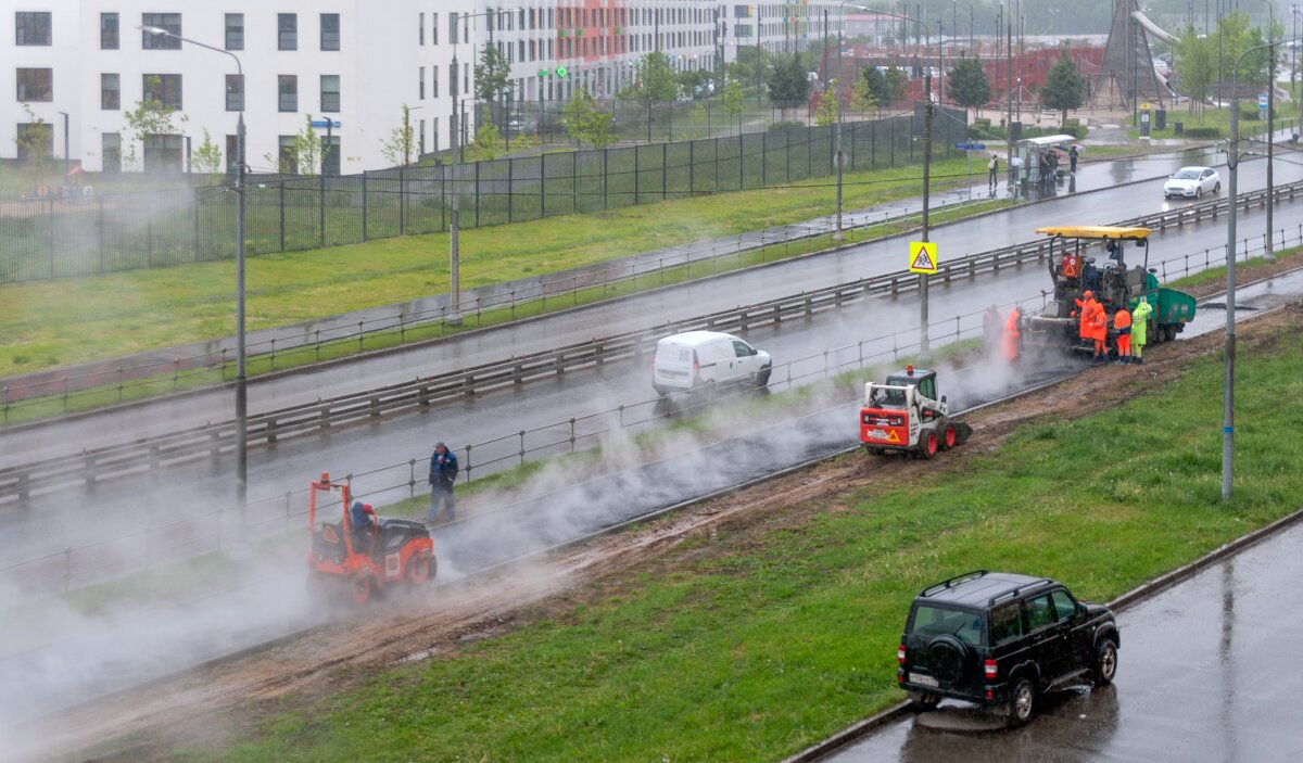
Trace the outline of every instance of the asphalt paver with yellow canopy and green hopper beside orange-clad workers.
{"label": "asphalt paver with yellow canopy and green hopper beside orange-clad workers", "polygon": [[[1024,346],[1093,352],[1093,348],[1083,346],[1079,337],[1076,301],[1087,290],[1093,292],[1104,306],[1110,352],[1117,349],[1113,314],[1119,307],[1134,311],[1140,299],[1149,302],[1153,307],[1148,324],[1151,345],[1171,341],[1186,323],[1194,320],[1195,298],[1161,286],[1156,271],[1149,268],[1149,228],[1070,225],[1037,228],[1036,232],[1052,240],[1049,271],[1054,290],[1045,307],[1027,319]],[[1143,264],[1127,266],[1128,246],[1143,250]],[[1096,264],[1092,253],[1102,253],[1105,262]]]}

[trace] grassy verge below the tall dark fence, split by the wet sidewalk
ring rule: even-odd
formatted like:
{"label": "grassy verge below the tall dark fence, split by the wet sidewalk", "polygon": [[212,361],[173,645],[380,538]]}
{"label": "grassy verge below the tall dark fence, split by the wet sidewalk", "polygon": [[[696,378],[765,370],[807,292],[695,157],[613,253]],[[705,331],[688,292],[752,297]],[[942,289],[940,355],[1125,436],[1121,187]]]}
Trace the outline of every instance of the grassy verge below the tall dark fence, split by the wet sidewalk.
{"label": "grassy verge below the tall dark fence, split by the wet sidewalk", "polygon": [[[887,177],[886,174],[890,174]],[[866,206],[912,194],[915,181],[906,171],[863,176],[861,199],[848,207]],[[483,228],[463,233],[466,288],[593,264],[650,249],[735,234],[767,225],[804,220],[827,211],[825,186],[748,191],[722,197],[629,207],[601,215],[550,217],[512,227]],[[747,198],[740,198],[747,197]],[[934,223],[975,215],[1010,204],[990,201],[939,211]],[[666,225],[665,220],[675,220]],[[916,227],[915,220],[893,221],[847,233],[847,241],[887,236]],[[468,314],[466,328],[491,326],[612,296],[728,272],[753,264],[796,257],[834,246],[831,237],[775,243],[718,260],[667,267],[611,286],[581,289],[545,302],[526,302],[482,314]],[[354,251],[356,250],[356,251]],[[442,234],[392,238],[366,245],[341,246],[313,253],[275,254],[250,260],[249,329],[285,326],[377,305],[390,305],[447,288],[447,238]],[[438,253],[431,255],[431,253]],[[481,270],[476,270],[480,267]],[[38,370],[69,362],[119,357],[159,349],[203,337],[222,336],[231,319],[229,263],[203,263],[155,271],[113,273],[77,281],[0,288],[25,310],[0,316],[0,331],[17,341],[0,346],[0,368],[9,372]],[[469,271],[469,272],[468,272]],[[443,275],[440,275],[443,273]],[[198,276],[198,277],[197,277]],[[439,279],[444,280],[439,280]],[[8,327],[5,326],[8,323]],[[322,359],[395,346],[440,336],[442,323],[417,326],[366,336],[364,341],[340,340],[319,349],[279,352],[275,357],[251,357],[249,372],[283,370]],[[103,339],[96,339],[103,337]],[[253,348],[251,352],[257,352]],[[8,361],[8,362],[7,362]],[[85,410],[122,400],[147,397],[175,389],[222,382],[223,371],[171,371],[120,388],[116,382],[64,400],[29,401],[8,411],[17,423]]]}

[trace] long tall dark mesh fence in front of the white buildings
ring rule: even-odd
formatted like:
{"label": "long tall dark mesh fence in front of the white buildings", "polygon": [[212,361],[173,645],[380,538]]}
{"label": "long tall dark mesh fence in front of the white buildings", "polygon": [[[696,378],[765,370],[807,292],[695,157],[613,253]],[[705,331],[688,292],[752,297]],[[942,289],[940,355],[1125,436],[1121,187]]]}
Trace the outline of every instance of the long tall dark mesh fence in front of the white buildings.
{"label": "long tall dark mesh fence in front of the white buildings", "polygon": [[[946,109],[941,109],[946,111]],[[933,120],[933,155],[959,154],[964,112]],[[848,171],[921,161],[921,109],[846,122]],[[701,194],[752,190],[833,173],[834,126],[337,177],[250,177],[250,255],[448,229],[597,212]],[[188,264],[235,257],[229,186],[0,203],[0,284]]]}

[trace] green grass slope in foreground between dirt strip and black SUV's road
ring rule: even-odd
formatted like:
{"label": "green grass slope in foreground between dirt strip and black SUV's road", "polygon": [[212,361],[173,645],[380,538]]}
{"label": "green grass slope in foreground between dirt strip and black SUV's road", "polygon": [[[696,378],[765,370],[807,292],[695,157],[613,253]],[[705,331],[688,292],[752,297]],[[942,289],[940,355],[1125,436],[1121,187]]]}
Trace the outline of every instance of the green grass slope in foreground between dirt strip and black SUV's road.
{"label": "green grass slope in foreground between dirt strip and black SUV's road", "polygon": [[1119,408],[1025,426],[942,479],[803,520],[778,510],[760,534],[689,540],[509,634],[337,694],[253,703],[262,720],[238,743],[175,755],[779,759],[902,698],[895,643],[925,583],[1011,569],[1106,600],[1296,508],[1303,440],[1280,432],[1303,424],[1299,328],[1243,342],[1229,504],[1212,355],[1153,392],[1121,382]]}

